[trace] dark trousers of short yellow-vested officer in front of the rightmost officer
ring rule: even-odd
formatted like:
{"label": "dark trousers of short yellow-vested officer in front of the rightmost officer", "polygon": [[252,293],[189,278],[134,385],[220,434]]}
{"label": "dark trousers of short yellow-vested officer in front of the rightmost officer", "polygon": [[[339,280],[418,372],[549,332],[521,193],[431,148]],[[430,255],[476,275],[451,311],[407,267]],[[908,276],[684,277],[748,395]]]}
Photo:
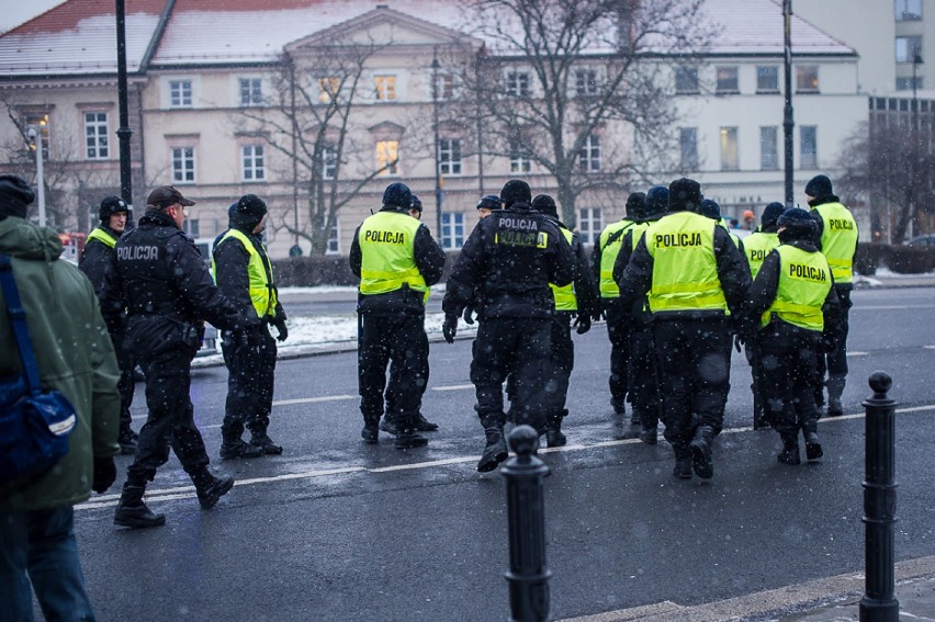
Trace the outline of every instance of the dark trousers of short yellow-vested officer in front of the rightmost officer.
{"label": "dark trousers of short yellow-vested officer in front of the rightmost officer", "polygon": [[759,331],[758,341],[767,415],[780,434],[798,433],[804,421],[820,417],[821,333],[774,320]]}

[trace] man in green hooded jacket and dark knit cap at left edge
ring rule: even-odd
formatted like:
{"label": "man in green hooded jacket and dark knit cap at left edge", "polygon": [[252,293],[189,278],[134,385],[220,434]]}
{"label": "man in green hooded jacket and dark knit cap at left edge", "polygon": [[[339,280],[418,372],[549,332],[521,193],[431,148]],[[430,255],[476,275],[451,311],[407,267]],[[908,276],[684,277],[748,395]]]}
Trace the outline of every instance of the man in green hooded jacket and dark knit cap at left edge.
{"label": "man in green hooded jacket and dark knit cap at left edge", "polygon": [[[25,181],[0,176],[0,252],[12,258],[42,384],[68,398],[78,422],[50,471],[0,498],[0,617],[33,619],[32,584],[46,620],[93,620],[72,506],[116,478],[120,371],[91,283],[58,259],[54,230],[25,220],[33,199]],[[0,376],[20,373],[0,293]]]}

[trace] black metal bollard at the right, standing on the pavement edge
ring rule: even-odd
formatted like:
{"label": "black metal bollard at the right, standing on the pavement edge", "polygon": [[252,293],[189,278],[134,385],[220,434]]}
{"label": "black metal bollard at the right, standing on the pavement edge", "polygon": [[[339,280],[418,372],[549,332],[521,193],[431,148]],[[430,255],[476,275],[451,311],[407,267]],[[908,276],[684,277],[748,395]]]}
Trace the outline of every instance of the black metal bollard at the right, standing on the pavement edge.
{"label": "black metal bollard at the right, standing on the pavement edge", "polygon": [[887,395],[893,381],[886,372],[874,372],[869,382],[874,395],[864,400],[867,412],[864,439],[866,589],[860,599],[860,622],[899,622],[893,570],[895,402]]}

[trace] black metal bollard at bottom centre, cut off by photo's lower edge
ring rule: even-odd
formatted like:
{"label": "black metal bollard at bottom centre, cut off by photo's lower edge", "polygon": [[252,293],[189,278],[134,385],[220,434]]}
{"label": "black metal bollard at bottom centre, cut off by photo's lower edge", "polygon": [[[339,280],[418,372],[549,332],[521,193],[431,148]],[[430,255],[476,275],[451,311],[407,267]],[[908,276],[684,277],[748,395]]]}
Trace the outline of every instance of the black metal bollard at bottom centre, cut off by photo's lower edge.
{"label": "black metal bollard at bottom centre, cut off by photo's lower edge", "polygon": [[549,467],[532,455],[539,434],[519,426],[509,436],[516,457],[502,472],[507,480],[509,518],[510,622],[549,620],[549,577],[545,567],[545,497],[542,480]]}

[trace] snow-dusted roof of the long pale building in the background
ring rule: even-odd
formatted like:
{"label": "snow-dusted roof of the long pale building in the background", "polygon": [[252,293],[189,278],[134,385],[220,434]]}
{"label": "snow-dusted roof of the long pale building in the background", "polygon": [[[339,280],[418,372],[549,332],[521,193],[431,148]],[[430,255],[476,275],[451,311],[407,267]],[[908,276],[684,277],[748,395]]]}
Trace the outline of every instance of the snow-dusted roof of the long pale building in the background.
{"label": "snow-dusted roof of the long pale building in the background", "polygon": [[[150,45],[154,67],[272,63],[288,44],[373,11],[378,2],[452,31],[466,27],[459,0],[127,0],[127,69],[140,69]],[[719,31],[709,54],[782,54],[777,1],[707,0],[703,13]],[[113,0],[69,0],[0,36],[0,78],[115,73],[115,22]],[[795,16],[792,45],[796,55],[856,56]]]}

